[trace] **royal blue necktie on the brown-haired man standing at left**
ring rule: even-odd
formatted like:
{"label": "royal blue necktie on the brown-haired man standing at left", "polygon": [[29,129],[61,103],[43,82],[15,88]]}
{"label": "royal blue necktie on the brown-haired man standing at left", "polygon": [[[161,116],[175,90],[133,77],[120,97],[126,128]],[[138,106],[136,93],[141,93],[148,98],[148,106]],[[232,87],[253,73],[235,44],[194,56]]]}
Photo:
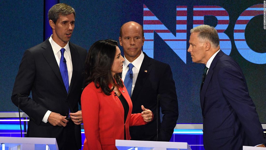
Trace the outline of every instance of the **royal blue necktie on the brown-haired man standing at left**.
{"label": "royal blue necktie on the brown-haired man standing at left", "polygon": [[68,88],[69,88],[69,81],[68,81],[68,71],[67,71],[67,66],[66,66],[66,59],[64,58],[64,52],[65,48],[62,48],[60,50],[61,52],[61,58],[60,58],[60,63],[59,63],[59,69],[60,73],[66,88],[66,93],[68,93]]}

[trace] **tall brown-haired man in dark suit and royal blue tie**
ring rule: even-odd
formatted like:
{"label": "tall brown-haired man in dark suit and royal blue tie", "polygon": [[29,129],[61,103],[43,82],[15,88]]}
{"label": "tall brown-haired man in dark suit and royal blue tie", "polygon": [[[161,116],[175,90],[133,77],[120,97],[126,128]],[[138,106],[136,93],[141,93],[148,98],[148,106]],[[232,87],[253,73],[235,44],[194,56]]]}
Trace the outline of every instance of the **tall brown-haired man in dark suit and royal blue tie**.
{"label": "tall brown-haired man in dark suit and royal blue tie", "polygon": [[30,117],[27,137],[53,137],[59,149],[81,149],[78,102],[87,51],[69,42],[75,22],[72,7],[56,4],[48,18],[53,34],[25,51],[11,99],[18,106],[19,95],[19,107]]}

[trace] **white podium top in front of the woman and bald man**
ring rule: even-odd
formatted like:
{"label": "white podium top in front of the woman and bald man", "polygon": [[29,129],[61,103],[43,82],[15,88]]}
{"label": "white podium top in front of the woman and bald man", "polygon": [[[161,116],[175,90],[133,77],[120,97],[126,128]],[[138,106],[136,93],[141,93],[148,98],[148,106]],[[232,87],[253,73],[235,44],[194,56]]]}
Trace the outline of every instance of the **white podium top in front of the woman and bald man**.
{"label": "white podium top in front of the woman and bald man", "polygon": [[115,140],[115,146],[118,150],[191,150],[184,142]]}

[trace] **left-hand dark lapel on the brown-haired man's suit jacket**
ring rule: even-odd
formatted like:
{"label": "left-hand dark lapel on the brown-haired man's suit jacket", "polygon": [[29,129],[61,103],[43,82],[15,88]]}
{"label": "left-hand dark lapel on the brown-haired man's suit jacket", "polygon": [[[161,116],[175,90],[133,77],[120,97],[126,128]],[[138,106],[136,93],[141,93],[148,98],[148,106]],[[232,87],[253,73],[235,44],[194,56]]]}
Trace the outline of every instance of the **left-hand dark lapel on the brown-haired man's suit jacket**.
{"label": "left-hand dark lapel on the brown-haired man's suit jacket", "polygon": [[43,42],[41,47],[44,49],[42,54],[45,60],[47,61],[49,66],[52,68],[53,72],[56,74],[57,78],[60,80],[60,82],[64,86],[64,82],[63,82],[63,79],[62,79],[62,76],[59,70],[59,66],[56,62],[55,54],[53,53],[51,43],[49,42],[49,38]]}

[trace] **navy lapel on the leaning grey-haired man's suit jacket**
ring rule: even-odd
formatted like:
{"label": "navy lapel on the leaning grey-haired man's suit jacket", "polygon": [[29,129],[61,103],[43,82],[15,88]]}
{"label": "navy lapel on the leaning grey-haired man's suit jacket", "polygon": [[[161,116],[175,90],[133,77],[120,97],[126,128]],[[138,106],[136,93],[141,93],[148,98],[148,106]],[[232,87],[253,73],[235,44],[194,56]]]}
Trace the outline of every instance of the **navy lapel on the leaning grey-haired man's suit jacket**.
{"label": "navy lapel on the leaning grey-haired man's suit jacket", "polygon": [[214,57],[213,61],[211,62],[211,66],[208,70],[208,73],[206,75],[206,78],[205,78],[205,81],[204,81],[204,84],[202,86],[202,89],[201,89],[201,92],[200,92],[200,104],[201,104],[201,109],[203,110],[203,104],[204,104],[204,97],[205,97],[205,93],[206,93],[206,90],[207,90],[207,87],[210,83],[210,80],[211,80],[211,77],[213,75],[213,68],[215,67],[217,61],[219,60],[219,58],[223,55],[223,51],[220,50],[217,55]]}

